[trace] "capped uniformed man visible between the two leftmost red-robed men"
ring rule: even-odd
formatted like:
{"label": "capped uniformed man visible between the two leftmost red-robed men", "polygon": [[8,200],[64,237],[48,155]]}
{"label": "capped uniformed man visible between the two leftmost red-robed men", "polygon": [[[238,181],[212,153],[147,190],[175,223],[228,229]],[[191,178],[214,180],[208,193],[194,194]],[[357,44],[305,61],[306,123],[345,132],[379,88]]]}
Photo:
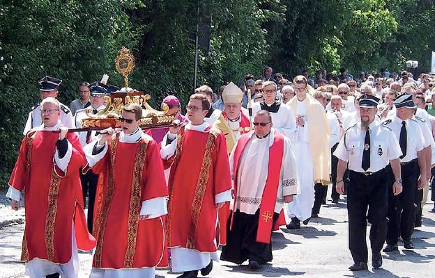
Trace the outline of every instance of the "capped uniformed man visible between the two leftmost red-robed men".
{"label": "capped uniformed man visible between the two leftmost red-robed men", "polygon": [[[88,118],[86,111],[89,111],[90,114],[96,115],[100,111],[105,109],[104,99],[105,93],[107,92],[107,85],[103,83],[94,82],[89,85],[89,92],[91,92],[91,106],[88,108],[81,109],[77,111],[75,114],[75,124],[77,127],[82,127],[82,120]],[[82,147],[84,147],[87,143],[96,139],[97,131],[82,131],[79,132],[80,143],[82,143]],[[92,171],[86,172],[83,174],[80,172],[80,181],[82,182],[82,192],[84,204],[86,206],[86,195],[88,196],[88,230],[92,233],[93,226],[93,204],[95,203],[95,197],[97,193],[97,183],[98,183],[98,174],[94,174]]]}

